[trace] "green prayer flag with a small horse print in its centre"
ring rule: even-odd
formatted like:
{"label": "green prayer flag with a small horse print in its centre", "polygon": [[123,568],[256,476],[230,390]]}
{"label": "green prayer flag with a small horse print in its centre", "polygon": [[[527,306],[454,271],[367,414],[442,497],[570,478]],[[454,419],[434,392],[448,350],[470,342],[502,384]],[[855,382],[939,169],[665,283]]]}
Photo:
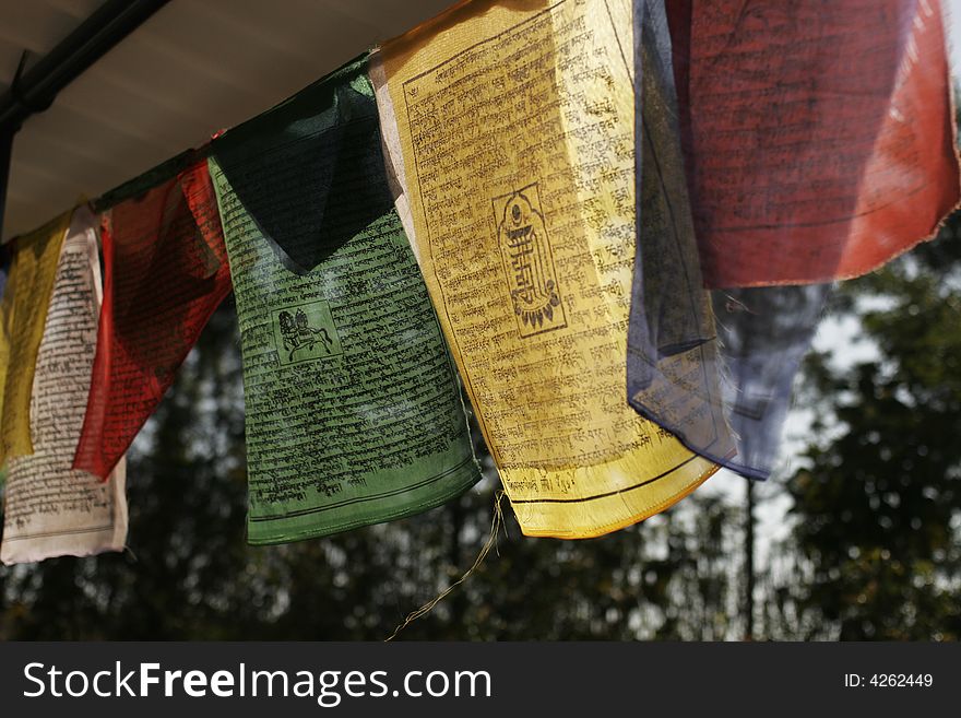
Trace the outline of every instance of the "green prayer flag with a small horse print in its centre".
{"label": "green prayer flag with a small horse print in its centre", "polygon": [[480,476],[393,209],[366,57],[213,143],[240,323],[248,540],[411,516]]}

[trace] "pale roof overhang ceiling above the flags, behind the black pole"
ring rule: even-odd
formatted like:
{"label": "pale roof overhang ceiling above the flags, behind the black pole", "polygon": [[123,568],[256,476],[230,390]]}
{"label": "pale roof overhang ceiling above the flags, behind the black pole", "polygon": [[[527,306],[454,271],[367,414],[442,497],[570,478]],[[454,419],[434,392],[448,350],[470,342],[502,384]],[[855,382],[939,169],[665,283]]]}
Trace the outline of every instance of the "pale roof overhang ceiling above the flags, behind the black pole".
{"label": "pale roof overhang ceiling above the flags, behind the black pole", "polygon": [[[17,132],[3,238],[275,105],[452,0],[171,0]],[[0,93],[100,0],[0,0]]]}

